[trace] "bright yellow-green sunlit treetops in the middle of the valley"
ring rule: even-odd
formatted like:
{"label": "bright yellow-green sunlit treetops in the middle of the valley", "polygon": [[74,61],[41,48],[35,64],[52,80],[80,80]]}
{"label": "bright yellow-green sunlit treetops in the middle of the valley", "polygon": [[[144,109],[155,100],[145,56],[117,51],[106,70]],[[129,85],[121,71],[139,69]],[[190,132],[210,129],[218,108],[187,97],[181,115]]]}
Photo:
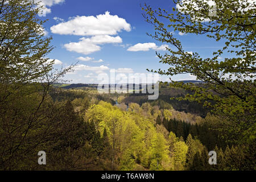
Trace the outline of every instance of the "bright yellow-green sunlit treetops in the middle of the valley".
{"label": "bright yellow-green sunlit treetops in the middle of the valley", "polygon": [[[136,111],[142,109],[136,104],[131,104],[130,110],[121,111],[118,107],[100,101],[93,105],[85,114],[88,121],[93,121],[101,135],[106,128],[110,144],[118,151],[115,162],[119,162],[119,169],[135,169],[136,164],[151,170],[170,170],[173,160],[179,160],[182,165],[184,153],[187,152],[184,142],[177,143],[175,137],[174,158],[170,156],[169,141],[159,133],[153,122],[141,117]],[[176,154],[181,152],[180,155]]]}

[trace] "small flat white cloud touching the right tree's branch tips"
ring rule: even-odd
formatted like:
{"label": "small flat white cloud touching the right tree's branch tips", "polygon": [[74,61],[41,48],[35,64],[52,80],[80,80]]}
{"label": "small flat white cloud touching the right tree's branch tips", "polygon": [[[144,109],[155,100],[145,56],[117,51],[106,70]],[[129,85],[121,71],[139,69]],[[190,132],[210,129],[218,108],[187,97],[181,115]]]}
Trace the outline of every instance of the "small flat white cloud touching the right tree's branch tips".
{"label": "small flat white cloud touching the right tree's branch tips", "polygon": [[134,46],[131,46],[127,49],[127,51],[133,51],[133,52],[137,52],[137,51],[149,51],[150,49],[154,49],[154,50],[165,50],[166,47],[168,47],[167,45],[162,45],[160,47],[156,46],[155,43],[138,43],[135,44]]}

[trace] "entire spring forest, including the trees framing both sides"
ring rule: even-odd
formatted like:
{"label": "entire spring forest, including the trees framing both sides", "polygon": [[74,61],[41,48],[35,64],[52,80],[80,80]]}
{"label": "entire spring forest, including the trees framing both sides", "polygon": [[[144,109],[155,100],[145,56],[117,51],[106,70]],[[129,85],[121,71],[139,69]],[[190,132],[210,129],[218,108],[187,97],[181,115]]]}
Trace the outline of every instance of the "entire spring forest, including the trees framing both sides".
{"label": "entire spring forest, including the trees framing both sides", "polygon": [[[187,4],[190,16],[142,7],[156,31],[148,35],[176,46],[170,55],[157,55],[170,69],[151,72],[201,80],[160,82],[157,100],[68,84],[63,77],[75,64],[53,69],[47,58],[52,38],[42,35],[40,7],[30,0],[0,2],[0,170],[254,171],[255,9],[237,13],[228,11],[240,9],[236,1],[215,2],[222,19]],[[217,56],[184,52],[159,17],[181,32],[227,39],[214,55],[232,46],[236,57],[218,63]],[[46,165],[38,164],[39,151],[46,152]],[[210,151],[217,164],[209,163]]]}

